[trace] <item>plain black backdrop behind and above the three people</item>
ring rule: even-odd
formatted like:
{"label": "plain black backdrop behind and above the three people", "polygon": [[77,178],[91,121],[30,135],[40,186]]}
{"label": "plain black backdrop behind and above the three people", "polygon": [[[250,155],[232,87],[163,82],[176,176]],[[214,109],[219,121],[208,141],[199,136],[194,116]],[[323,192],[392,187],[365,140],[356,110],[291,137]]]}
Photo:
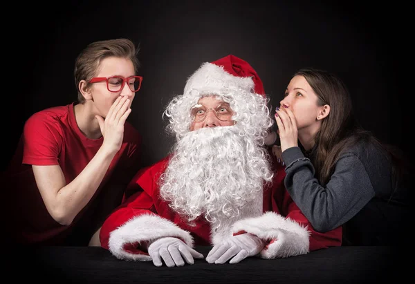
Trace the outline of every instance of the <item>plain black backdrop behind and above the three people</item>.
{"label": "plain black backdrop behind and above the three people", "polygon": [[349,86],[365,129],[409,155],[414,97],[399,82],[409,64],[408,7],[399,1],[59,1],[8,2],[3,15],[1,112],[4,167],[28,117],[77,100],[73,66],[92,41],[127,37],[140,45],[142,88],[131,122],[142,134],[142,164],[174,138],[162,113],[204,61],[233,54],[261,77],[275,108],[295,70],[337,73]]}

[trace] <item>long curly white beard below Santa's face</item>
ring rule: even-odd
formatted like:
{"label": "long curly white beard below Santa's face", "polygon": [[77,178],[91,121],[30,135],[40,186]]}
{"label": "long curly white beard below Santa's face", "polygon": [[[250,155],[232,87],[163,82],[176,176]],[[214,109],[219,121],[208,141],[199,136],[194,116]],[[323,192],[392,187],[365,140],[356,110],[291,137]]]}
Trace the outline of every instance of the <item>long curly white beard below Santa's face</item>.
{"label": "long curly white beard below Santa's face", "polygon": [[272,177],[268,152],[238,124],[203,128],[176,143],[160,196],[190,224],[202,214],[215,223],[241,216]]}

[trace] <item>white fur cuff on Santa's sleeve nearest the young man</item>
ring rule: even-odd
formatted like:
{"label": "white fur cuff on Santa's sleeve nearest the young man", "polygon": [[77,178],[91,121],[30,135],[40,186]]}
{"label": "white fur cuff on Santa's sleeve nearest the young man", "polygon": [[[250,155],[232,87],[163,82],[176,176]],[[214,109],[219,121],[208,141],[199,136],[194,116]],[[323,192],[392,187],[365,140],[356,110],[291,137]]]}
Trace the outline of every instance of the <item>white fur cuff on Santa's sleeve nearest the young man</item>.
{"label": "white fur cuff on Santa's sleeve nearest the young man", "polygon": [[151,256],[131,254],[124,251],[123,247],[127,243],[151,242],[162,237],[181,238],[186,245],[193,247],[193,238],[188,231],[160,216],[145,214],[132,218],[118,229],[111,231],[108,242],[109,251],[120,259],[151,261]]}

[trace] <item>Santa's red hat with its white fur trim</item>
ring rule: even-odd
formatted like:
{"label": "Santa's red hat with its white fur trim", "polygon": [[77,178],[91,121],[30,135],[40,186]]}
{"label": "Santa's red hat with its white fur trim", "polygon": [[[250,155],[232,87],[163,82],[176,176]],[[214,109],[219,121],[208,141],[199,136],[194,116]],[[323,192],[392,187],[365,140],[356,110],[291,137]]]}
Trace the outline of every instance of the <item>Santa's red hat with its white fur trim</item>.
{"label": "Santa's red hat with its white fur trim", "polygon": [[255,69],[234,55],[203,63],[187,79],[184,95],[194,89],[205,95],[220,93],[222,88],[241,88],[265,97],[264,86]]}

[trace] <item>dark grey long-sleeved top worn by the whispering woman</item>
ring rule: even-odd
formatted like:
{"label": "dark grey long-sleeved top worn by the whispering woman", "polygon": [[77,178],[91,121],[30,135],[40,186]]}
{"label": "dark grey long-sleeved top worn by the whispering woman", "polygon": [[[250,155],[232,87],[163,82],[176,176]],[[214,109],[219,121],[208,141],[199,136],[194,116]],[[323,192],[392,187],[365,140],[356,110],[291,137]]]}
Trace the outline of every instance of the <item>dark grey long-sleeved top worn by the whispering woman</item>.
{"label": "dark grey long-sleeved top worn by the whispering woman", "polygon": [[282,157],[286,189],[316,231],[343,225],[344,245],[389,245],[407,230],[407,191],[394,190],[391,163],[373,144],[344,151],[325,187],[299,147],[286,149]]}

